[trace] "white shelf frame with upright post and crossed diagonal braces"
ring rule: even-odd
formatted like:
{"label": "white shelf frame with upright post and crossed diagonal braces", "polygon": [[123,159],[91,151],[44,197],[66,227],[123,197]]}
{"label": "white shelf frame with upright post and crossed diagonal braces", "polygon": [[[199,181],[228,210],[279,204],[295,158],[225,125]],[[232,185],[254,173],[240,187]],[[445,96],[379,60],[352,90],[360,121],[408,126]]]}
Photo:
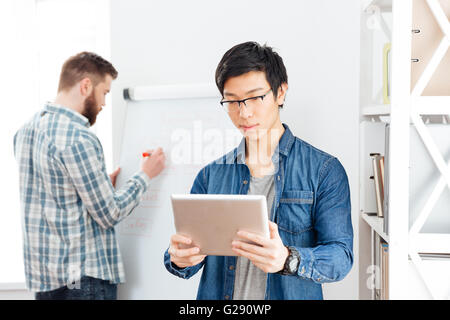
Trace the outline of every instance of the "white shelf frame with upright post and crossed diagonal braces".
{"label": "white shelf frame with upright post and crossed diagonal braces", "polygon": [[[413,264],[420,276],[428,297],[446,298],[442,290],[436,290],[436,283],[431,282],[432,275],[425,267],[420,253],[450,253],[450,234],[420,233],[431,210],[441,193],[450,189],[450,161],[445,162],[436,144],[429,134],[421,116],[441,115],[443,123],[448,123],[450,116],[450,97],[421,96],[445,53],[450,47],[450,22],[438,0],[426,0],[434,18],[443,31],[443,39],[433,57],[411,91],[411,29],[412,0],[373,0],[363,4],[363,12],[379,14],[380,11],[392,11],[391,50],[391,104],[362,103],[362,120],[375,121],[376,117],[390,118],[390,179],[389,179],[389,236],[383,232],[383,218],[361,214],[361,220],[367,223],[373,232],[379,234],[389,243],[389,298],[407,299],[411,296],[405,272]],[[392,3],[392,5],[390,5]],[[379,10],[374,7],[379,6]],[[384,21],[383,21],[384,22]],[[380,23],[381,32],[386,33],[385,23]],[[362,54],[363,54],[363,50]],[[361,78],[364,79],[364,78]],[[364,80],[363,80],[364,81]],[[413,123],[435,165],[441,178],[435,186],[419,217],[409,229],[409,125]],[[364,150],[364,148],[362,149]],[[395,214],[392,214],[395,213]],[[360,228],[360,230],[363,230]],[[361,235],[360,235],[361,237]],[[361,250],[361,249],[360,249]],[[427,262],[429,264],[429,262]],[[361,264],[360,264],[361,267]],[[361,274],[361,273],[360,273]],[[362,280],[363,281],[363,280]],[[442,286],[448,284],[443,283]],[[361,285],[360,285],[361,288]],[[441,288],[438,288],[441,289]],[[444,288],[445,289],[445,288]],[[448,288],[447,288],[448,290]]]}

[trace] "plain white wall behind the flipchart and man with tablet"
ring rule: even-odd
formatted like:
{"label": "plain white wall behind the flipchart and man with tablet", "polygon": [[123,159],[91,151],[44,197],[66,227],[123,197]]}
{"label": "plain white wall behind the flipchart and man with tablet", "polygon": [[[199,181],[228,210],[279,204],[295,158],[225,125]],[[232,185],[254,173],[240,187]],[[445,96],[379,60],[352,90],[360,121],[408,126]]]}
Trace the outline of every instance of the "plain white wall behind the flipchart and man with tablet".
{"label": "plain white wall behind the flipchart and man with tablet", "polygon": [[327,299],[358,298],[359,10],[357,0],[111,1],[111,60],[119,71],[112,91],[115,164],[123,88],[213,83],[225,51],[249,40],[283,57],[289,91],[282,121],[337,156],[350,181],[356,260],[346,279],[324,286]]}

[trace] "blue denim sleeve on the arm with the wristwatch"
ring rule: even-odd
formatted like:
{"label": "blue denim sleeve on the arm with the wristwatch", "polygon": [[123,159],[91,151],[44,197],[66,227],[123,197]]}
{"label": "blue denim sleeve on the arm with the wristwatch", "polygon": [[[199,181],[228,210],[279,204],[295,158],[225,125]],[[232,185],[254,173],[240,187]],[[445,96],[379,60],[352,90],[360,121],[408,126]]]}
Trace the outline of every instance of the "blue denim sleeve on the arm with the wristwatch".
{"label": "blue denim sleeve on the arm with the wristwatch", "polygon": [[348,178],[336,158],[321,169],[313,221],[316,246],[296,248],[298,276],[317,283],[342,280],[353,265],[353,227]]}

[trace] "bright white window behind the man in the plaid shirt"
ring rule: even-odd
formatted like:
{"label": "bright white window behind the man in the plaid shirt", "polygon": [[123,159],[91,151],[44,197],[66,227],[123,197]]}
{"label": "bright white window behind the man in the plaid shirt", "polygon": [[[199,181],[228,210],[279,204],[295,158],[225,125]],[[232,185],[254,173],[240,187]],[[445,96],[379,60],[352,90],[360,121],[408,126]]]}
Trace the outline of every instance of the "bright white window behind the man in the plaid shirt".
{"label": "bright white window behind the man in the plaid shirt", "polygon": [[[107,0],[2,0],[0,28],[8,30],[2,46],[0,117],[0,283],[25,281],[15,132],[56,96],[63,62],[81,51],[109,59]],[[3,37],[3,34],[2,34]],[[108,170],[112,161],[111,103],[92,128],[102,141]]]}

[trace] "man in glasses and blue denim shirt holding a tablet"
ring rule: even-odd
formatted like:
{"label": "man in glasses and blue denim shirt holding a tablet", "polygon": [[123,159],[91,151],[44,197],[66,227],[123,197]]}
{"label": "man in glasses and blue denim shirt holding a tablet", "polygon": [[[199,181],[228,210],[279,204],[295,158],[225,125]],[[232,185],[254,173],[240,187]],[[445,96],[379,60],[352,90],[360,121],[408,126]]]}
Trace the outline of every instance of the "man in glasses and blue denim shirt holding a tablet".
{"label": "man in glasses and blue denim shirt holding a tablet", "polygon": [[281,57],[246,42],[228,50],[216,70],[221,104],[244,136],[204,167],[191,193],[264,194],[270,239],[239,231],[236,256],[182,249],[175,234],[167,270],[188,279],[203,267],[198,299],[322,299],[322,283],[342,280],[353,265],[350,190],[339,160],[295,137],[279,109],[288,89]]}

